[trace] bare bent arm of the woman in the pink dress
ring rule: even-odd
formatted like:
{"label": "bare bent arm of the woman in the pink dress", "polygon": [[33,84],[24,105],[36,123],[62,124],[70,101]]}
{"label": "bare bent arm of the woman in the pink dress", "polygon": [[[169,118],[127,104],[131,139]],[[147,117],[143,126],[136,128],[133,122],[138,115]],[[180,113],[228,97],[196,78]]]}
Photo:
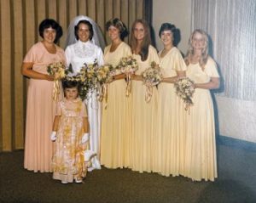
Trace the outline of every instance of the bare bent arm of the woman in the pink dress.
{"label": "bare bent arm of the woman in the pink dress", "polygon": [[33,67],[33,63],[23,63],[21,65],[21,74],[23,76],[28,76],[30,78],[33,79],[38,79],[38,80],[47,80],[47,81],[53,81],[54,77],[53,76],[49,76],[47,74],[43,74],[43,73],[39,73],[35,70],[32,70]]}

